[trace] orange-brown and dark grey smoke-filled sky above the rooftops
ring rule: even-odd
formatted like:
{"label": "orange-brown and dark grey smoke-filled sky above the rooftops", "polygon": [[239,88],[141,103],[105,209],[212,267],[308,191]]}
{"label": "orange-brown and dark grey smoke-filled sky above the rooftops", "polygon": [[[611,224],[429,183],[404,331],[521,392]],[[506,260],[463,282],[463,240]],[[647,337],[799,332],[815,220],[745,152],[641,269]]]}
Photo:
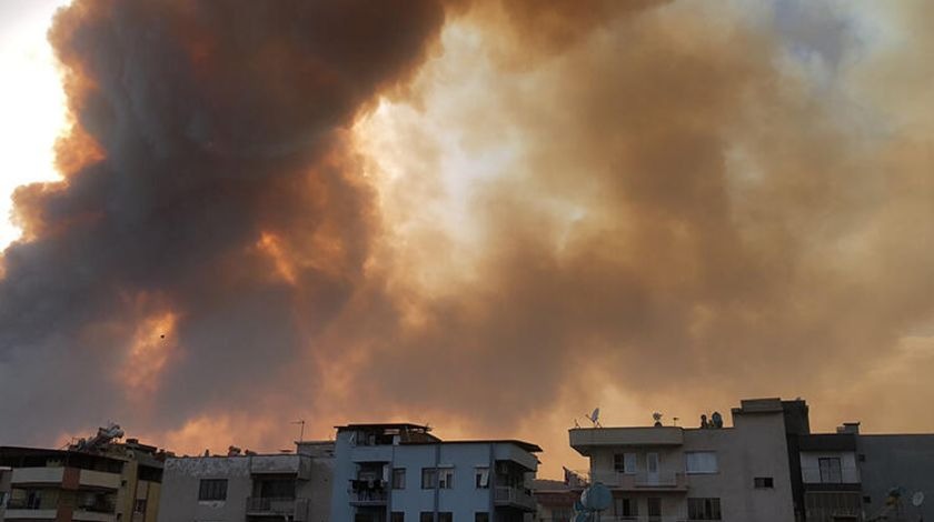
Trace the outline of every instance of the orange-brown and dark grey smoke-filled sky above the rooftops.
{"label": "orange-brown and dark grey smoke-filled sky above the rooftops", "polygon": [[931,14],[74,0],[61,178],[12,194],[0,441],[406,420],[538,442],[554,475],[596,405],[934,431]]}

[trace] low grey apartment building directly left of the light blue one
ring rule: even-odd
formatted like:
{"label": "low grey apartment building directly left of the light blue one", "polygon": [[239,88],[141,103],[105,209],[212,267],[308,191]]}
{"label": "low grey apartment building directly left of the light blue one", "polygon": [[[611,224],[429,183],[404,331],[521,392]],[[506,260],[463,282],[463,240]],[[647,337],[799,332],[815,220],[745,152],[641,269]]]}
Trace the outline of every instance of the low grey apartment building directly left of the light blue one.
{"label": "low grey apartment building directly left of the light blue one", "polygon": [[327,522],[334,442],[305,441],[288,453],[230,448],[218,456],[166,461],[159,520]]}

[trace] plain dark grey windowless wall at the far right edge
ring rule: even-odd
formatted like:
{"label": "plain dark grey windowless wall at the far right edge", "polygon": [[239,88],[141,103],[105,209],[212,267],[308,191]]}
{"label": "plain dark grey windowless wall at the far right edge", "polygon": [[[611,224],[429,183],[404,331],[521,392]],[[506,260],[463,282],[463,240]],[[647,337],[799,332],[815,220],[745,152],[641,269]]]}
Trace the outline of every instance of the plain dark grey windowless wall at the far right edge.
{"label": "plain dark grey windowless wall at the far right edge", "polygon": [[[903,488],[903,512],[908,520],[934,520],[934,435],[860,435],[857,453],[863,480],[863,495],[870,502],[863,508],[867,515],[880,512],[888,491]],[[925,500],[921,509],[911,504],[914,492],[922,491]],[[865,500],[865,499],[864,499]]]}

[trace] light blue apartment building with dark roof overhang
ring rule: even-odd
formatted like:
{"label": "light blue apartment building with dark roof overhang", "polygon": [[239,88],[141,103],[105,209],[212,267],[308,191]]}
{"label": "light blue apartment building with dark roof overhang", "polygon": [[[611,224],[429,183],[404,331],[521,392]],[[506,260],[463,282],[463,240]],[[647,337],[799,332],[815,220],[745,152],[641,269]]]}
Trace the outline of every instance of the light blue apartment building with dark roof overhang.
{"label": "light blue apartment building with dark roof overhang", "polygon": [[541,449],[516,440],[443,441],[409,423],[337,426],[331,520],[519,522]]}

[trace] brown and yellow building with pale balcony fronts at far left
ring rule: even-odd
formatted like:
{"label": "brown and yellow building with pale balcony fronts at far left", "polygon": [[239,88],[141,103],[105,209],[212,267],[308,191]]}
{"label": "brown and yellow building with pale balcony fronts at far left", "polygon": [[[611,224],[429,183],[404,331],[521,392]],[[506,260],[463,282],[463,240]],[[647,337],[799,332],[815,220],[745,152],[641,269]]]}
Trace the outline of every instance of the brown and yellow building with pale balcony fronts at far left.
{"label": "brown and yellow building with pale balcony fronts at far left", "polygon": [[155,522],[161,462],[127,448],[0,448],[10,469],[4,521]]}

